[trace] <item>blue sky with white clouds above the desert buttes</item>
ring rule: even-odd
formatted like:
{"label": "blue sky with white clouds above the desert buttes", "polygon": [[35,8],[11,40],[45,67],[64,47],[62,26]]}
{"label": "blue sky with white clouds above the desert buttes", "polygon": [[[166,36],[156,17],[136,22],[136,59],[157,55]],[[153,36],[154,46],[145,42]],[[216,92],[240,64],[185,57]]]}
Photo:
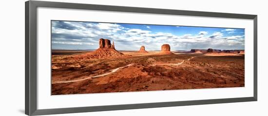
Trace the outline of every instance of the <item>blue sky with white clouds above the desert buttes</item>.
{"label": "blue sky with white clouds above the desert buttes", "polygon": [[52,49],[97,49],[98,39],[115,41],[116,50],[244,49],[245,30],[149,24],[51,21]]}

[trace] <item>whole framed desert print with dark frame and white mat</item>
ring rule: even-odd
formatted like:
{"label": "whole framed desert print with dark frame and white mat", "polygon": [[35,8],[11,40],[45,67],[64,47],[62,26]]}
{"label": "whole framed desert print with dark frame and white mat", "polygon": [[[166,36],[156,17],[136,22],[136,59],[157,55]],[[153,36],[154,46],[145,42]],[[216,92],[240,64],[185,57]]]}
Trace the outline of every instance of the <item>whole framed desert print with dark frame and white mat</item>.
{"label": "whole framed desert print with dark frame and white mat", "polygon": [[257,100],[257,16],[25,2],[25,114]]}

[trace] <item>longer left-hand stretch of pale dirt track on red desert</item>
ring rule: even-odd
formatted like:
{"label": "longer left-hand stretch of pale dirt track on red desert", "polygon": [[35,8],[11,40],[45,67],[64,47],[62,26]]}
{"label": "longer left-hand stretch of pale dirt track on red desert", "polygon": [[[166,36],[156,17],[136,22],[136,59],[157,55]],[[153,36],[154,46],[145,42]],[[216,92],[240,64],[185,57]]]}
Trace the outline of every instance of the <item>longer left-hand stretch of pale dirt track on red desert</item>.
{"label": "longer left-hand stretch of pale dirt track on red desert", "polygon": [[76,80],[56,81],[56,82],[52,82],[52,84],[57,84],[57,83],[69,83],[69,82],[76,82],[76,81],[86,80],[86,79],[89,79],[89,78],[102,77],[102,76],[109,75],[109,74],[111,74],[111,73],[115,73],[117,70],[119,70],[119,69],[121,69],[121,68],[125,68],[125,67],[132,66],[132,65],[133,65],[133,64],[128,64],[128,65],[126,65],[126,66],[118,67],[118,68],[116,68],[116,69],[112,69],[111,72],[109,72],[109,73],[105,73],[105,74],[102,74],[102,75],[97,75],[97,76],[92,76],[92,77],[86,77],[86,78],[81,78],[81,79],[76,79]]}

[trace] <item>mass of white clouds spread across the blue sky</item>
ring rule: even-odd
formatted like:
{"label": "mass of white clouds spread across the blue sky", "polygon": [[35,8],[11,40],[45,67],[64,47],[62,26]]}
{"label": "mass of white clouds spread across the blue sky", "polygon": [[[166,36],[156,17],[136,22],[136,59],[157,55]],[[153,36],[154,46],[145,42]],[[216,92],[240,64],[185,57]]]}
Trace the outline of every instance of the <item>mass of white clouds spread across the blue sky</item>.
{"label": "mass of white clouds spread across the blue sky", "polygon": [[[115,23],[70,21],[66,24],[69,24],[70,28],[52,27],[52,33],[56,36],[53,37],[52,43],[83,45],[85,48],[95,49],[98,47],[98,39],[104,38],[115,40],[118,50],[138,50],[141,45],[145,45],[147,50],[160,50],[164,43],[170,44],[172,50],[207,49],[207,47],[214,49],[230,48],[230,46],[226,47],[227,45],[244,46],[243,36],[224,37],[224,34],[221,33],[224,31],[232,32],[234,29],[225,29],[214,33],[200,31],[196,34],[177,36],[172,33],[129,29]],[[146,26],[146,28],[148,27],[150,28],[150,26]]]}

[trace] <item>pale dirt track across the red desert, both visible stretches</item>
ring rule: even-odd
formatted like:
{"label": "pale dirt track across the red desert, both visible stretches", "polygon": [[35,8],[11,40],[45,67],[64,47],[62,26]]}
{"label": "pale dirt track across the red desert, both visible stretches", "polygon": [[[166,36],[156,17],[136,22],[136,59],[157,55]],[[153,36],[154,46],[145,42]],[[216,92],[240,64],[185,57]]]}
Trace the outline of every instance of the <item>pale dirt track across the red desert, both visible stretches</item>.
{"label": "pale dirt track across the red desert, both visible stretches", "polygon": [[[187,59],[187,60],[189,61],[189,60],[191,60],[192,58],[195,58],[195,57],[191,57],[191,58],[189,58],[189,59]],[[152,64],[151,66],[155,66],[155,65],[181,65],[184,61],[185,61],[185,60],[183,60],[183,61],[180,62],[180,63],[174,63],[174,64]],[[125,68],[125,67],[132,66],[132,65],[133,65],[133,64],[128,64],[128,65],[126,65],[126,66],[118,67],[118,68],[116,68],[116,69],[112,69],[111,72],[109,72],[109,73],[105,73],[105,74],[101,74],[101,75],[97,75],[97,76],[90,76],[90,77],[81,78],[81,79],[76,79],[76,80],[56,81],[56,82],[52,82],[52,84],[77,82],[77,81],[82,81],[82,80],[86,80],[86,79],[90,79],[90,78],[102,77],[102,76],[109,75],[109,74],[111,74],[111,73],[115,73],[116,71],[118,71],[118,70],[121,69],[121,68]]]}

